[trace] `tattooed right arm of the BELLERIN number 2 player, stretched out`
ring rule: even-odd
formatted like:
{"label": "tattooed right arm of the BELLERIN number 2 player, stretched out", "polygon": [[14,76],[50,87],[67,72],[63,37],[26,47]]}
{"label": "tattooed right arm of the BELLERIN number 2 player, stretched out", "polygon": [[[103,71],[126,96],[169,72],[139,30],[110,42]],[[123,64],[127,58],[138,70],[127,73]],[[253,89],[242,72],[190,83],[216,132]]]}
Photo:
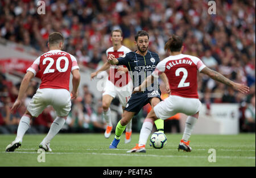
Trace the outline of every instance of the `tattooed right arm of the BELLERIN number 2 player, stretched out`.
{"label": "tattooed right arm of the BELLERIN number 2 player, stretched out", "polygon": [[213,80],[216,80],[218,82],[221,82],[223,84],[231,86],[234,90],[237,90],[238,92],[248,93],[250,90],[250,88],[248,86],[233,82],[232,80],[229,80],[229,78],[224,77],[222,74],[220,74],[216,71],[213,71],[212,69],[209,69],[208,67],[205,67],[204,69],[202,69],[201,73],[207,74]]}

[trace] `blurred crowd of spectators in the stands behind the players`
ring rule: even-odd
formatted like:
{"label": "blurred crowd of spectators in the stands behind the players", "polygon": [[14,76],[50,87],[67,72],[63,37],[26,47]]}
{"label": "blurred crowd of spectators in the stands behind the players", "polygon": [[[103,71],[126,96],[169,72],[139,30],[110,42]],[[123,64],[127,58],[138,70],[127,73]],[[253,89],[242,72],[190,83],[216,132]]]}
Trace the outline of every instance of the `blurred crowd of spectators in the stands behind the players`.
{"label": "blurred crowd of spectators in the stands behind the players", "polygon": [[[200,100],[209,108],[213,103],[239,103],[241,131],[250,130],[249,122],[254,123],[255,130],[255,1],[215,1],[216,14],[211,15],[205,0],[45,0],[44,15],[38,14],[37,2],[0,0],[0,37],[47,52],[48,35],[59,31],[65,37],[64,51],[75,55],[81,67],[96,69],[106,61],[105,51],[112,45],[112,30],[121,28],[123,45],[131,50],[137,48],[134,34],[139,30],[148,31],[149,49],[157,52],[161,60],[167,56],[164,44],[169,36],[179,35],[184,39],[183,53],[200,57],[209,68],[250,86],[250,93],[244,95],[199,74]],[[6,108],[18,93],[18,85],[6,86],[2,81],[1,85],[9,87],[9,97],[1,99],[0,125],[1,117],[8,115]],[[35,88],[32,84],[31,90],[35,92]],[[92,118],[100,121],[102,113],[100,101],[93,101],[93,95],[88,93],[84,92],[84,96],[75,101],[72,119],[67,120],[69,125],[82,125],[86,131],[93,130]],[[28,92],[25,101],[29,97]],[[88,106],[93,106],[94,111],[86,108]],[[249,107],[254,107],[252,119],[248,119]],[[51,111],[47,113],[51,115]],[[88,118],[85,113],[90,119],[84,119]],[[11,123],[18,122],[18,114]],[[86,122],[81,123],[82,120]],[[44,122],[48,128],[51,121]],[[104,128],[103,121],[98,123],[94,127]]]}

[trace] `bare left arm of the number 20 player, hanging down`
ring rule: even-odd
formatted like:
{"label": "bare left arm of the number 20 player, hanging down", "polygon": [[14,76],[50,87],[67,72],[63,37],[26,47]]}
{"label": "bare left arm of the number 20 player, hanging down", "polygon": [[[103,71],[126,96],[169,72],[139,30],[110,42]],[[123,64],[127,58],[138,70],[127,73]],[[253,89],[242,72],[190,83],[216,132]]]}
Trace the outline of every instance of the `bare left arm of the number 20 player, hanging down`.
{"label": "bare left arm of the number 20 player, hanging down", "polygon": [[19,88],[19,94],[17,100],[14,102],[13,107],[11,107],[11,113],[13,113],[21,104],[22,98],[24,97],[24,94],[26,93],[26,90],[28,88],[28,85],[30,84],[31,78],[34,77],[34,73],[28,71],[25,76],[23,77],[23,80],[20,84]]}

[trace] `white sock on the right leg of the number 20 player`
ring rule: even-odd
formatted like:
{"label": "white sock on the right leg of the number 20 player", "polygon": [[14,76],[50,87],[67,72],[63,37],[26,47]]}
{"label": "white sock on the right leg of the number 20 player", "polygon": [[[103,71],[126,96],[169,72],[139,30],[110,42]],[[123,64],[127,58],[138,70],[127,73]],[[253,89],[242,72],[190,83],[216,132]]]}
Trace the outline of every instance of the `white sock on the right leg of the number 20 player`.
{"label": "white sock on the right leg of the number 20 player", "polygon": [[51,139],[57,134],[59,133],[60,129],[63,127],[65,123],[65,119],[61,118],[61,117],[57,117],[51,125],[51,128],[49,129],[48,134],[46,135],[46,137],[43,139],[43,142],[49,143],[51,141]]}

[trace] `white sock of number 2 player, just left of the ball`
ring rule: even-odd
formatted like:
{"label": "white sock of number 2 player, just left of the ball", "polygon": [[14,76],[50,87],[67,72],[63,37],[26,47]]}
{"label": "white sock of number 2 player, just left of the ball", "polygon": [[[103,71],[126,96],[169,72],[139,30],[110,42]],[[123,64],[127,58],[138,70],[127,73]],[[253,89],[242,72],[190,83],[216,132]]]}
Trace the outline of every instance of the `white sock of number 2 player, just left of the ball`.
{"label": "white sock of number 2 player, just left of the ball", "polygon": [[141,127],[141,133],[139,133],[139,146],[146,145],[148,136],[150,136],[153,128],[151,119],[145,119]]}

